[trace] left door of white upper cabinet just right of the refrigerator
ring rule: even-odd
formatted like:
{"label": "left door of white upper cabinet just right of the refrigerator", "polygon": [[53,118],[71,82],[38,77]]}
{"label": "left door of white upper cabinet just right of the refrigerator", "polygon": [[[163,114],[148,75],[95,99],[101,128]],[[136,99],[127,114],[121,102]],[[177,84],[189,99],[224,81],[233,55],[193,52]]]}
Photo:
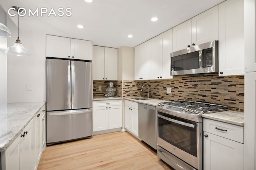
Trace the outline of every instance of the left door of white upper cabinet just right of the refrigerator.
{"label": "left door of white upper cabinet just right of the refrigerator", "polygon": [[105,48],[100,46],[92,46],[92,80],[105,79]]}

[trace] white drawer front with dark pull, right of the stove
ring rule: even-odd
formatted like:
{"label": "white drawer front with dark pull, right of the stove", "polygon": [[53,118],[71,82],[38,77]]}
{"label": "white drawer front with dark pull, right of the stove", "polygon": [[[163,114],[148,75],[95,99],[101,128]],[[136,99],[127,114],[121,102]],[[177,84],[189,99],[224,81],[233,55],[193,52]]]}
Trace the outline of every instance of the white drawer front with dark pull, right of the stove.
{"label": "white drawer front with dark pull, right of the stove", "polygon": [[204,119],[204,131],[244,143],[244,127],[220,121]]}

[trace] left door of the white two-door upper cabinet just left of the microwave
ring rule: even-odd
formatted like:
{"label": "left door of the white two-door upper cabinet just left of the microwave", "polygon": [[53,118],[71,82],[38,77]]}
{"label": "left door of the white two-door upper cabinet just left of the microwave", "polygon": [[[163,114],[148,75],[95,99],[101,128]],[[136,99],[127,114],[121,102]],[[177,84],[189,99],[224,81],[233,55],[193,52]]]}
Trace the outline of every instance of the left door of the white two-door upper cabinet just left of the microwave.
{"label": "left door of the white two-door upper cabinet just left of the microwave", "polygon": [[163,57],[163,39],[162,35],[158,35],[151,39],[152,41],[152,57],[150,59],[150,79],[160,78],[160,68]]}

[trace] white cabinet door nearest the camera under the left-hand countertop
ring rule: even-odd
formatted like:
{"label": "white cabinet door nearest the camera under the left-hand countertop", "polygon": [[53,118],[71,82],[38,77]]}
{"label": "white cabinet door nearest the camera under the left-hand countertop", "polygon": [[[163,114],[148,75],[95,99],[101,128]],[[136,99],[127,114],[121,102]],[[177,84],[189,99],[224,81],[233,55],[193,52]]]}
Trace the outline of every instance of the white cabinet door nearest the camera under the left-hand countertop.
{"label": "white cabinet door nearest the camera under the left-hand countertop", "polygon": [[[5,161],[3,161],[5,157]],[[21,170],[20,169],[20,136],[6,149],[4,154],[1,153],[2,168],[5,170]]]}

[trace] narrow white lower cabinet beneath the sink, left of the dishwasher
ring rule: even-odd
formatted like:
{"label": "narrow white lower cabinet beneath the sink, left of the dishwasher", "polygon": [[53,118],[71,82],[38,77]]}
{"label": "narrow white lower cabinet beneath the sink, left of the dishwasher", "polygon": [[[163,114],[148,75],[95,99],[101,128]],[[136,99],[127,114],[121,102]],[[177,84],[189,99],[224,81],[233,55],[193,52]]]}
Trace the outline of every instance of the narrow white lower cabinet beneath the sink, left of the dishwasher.
{"label": "narrow white lower cabinet beneath the sink, left of the dishwasher", "polygon": [[132,135],[139,136],[138,103],[129,100],[124,101],[124,127]]}

